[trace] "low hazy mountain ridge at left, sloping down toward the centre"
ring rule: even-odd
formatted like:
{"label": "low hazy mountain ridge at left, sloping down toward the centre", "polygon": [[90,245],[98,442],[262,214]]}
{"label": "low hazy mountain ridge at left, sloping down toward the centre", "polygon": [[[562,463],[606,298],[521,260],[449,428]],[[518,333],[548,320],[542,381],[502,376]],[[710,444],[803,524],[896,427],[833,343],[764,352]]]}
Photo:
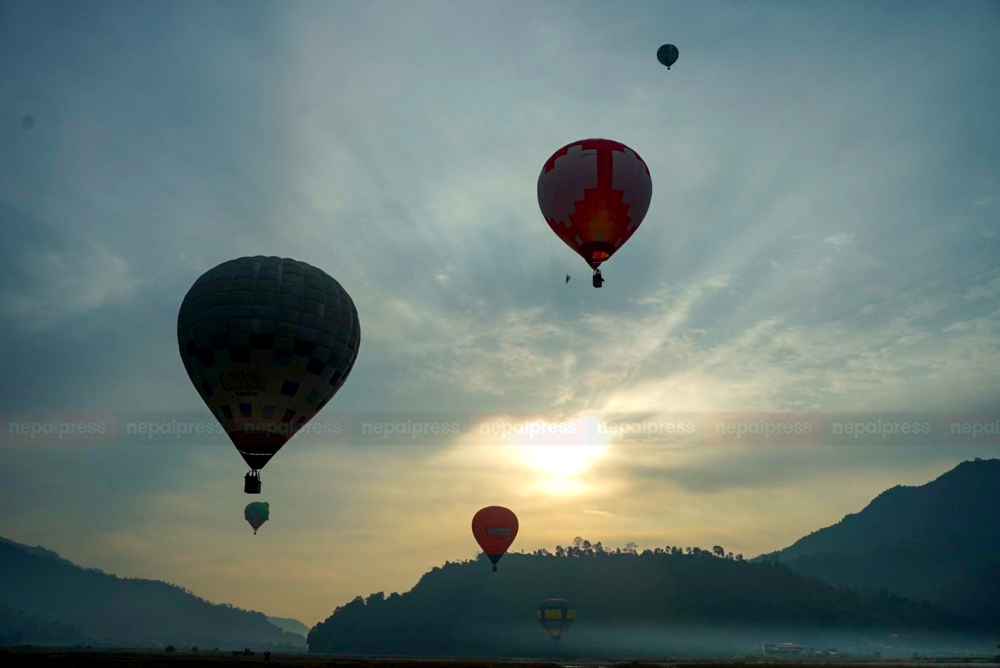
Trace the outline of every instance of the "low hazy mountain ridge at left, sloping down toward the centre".
{"label": "low hazy mountain ridge at left, sloping down toward the centre", "polygon": [[0,643],[302,648],[305,626],[280,621],[298,633],[175,585],[84,569],[51,550],[0,539]]}

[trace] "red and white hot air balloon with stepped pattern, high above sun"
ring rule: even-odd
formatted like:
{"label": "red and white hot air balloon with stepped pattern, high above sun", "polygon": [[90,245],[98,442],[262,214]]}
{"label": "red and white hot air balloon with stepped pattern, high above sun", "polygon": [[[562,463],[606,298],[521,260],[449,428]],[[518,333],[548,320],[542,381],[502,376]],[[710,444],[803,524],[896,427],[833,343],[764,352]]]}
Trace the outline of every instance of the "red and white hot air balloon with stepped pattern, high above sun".
{"label": "red and white hot air balloon with stepped pattern, high above sun", "polygon": [[604,283],[606,262],[635,233],[649,210],[649,168],[628,146],[583,139],[552,154],[538,176],[538,206],[552,231]]}

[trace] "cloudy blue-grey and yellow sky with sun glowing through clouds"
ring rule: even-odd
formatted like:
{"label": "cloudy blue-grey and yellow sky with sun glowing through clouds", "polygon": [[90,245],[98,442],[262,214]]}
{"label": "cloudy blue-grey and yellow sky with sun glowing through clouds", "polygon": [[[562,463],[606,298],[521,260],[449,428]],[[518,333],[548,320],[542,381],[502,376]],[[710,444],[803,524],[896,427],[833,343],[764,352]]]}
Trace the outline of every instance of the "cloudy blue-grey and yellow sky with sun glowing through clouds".
{"label": "cloudy blue-grey and yellow sky with sun glowing through clouds", "polygon": [[[1000,417],[997,81],[991,0],[3,3],[0,535],[312,625],[474,557],[486,505],[515,550],[750,557],[996,457],[831,425]],[[653,180],[600,290],[536,197],[588,137]],[[249,255],[323,269],[362,328],[317,417],[346,431],[274,458],[256,536],[224,435],[123,433],[214,422],[177,311]],[[406,420],[459,427],[364,427]]]}

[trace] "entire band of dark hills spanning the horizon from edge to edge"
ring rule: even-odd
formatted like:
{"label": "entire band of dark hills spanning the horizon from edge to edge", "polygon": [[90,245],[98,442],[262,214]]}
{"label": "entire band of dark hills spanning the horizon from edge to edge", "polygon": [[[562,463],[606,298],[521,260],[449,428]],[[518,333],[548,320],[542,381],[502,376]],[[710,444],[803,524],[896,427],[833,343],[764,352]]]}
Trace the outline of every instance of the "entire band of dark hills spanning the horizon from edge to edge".
{"label": "entire band of dark hills spanning the horizon from edge to edge", "polygon": [[[854,653],[1000,638],[1000,460],[895,487],[857,514],[752,561],[721,547],[605,549],[446,562],[404,594],[296,620],[215,605],[165,582],[84,569],[0,538],[0,644],[301,648],[395,656],[669,656],[791,641]],[[577,620],[556,653],[535,619],[565,598]],[[893,649],[895,648],[895,649]]]}

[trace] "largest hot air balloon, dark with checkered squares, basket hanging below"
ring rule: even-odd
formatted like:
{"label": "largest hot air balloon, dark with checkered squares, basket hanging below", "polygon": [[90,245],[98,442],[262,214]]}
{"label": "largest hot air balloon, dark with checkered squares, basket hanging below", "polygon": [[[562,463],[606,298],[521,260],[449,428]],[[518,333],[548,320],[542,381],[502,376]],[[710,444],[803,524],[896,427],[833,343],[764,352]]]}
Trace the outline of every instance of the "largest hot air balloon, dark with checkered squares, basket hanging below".
{"label": "largest hot air balloon, dark with checkered squares, basket hanging below", "polygon": [[244,257],[199,278],[177,316],[184,368],[250,467],[260,469],[354,368],[358,312],[340,283],[304,262]]}

